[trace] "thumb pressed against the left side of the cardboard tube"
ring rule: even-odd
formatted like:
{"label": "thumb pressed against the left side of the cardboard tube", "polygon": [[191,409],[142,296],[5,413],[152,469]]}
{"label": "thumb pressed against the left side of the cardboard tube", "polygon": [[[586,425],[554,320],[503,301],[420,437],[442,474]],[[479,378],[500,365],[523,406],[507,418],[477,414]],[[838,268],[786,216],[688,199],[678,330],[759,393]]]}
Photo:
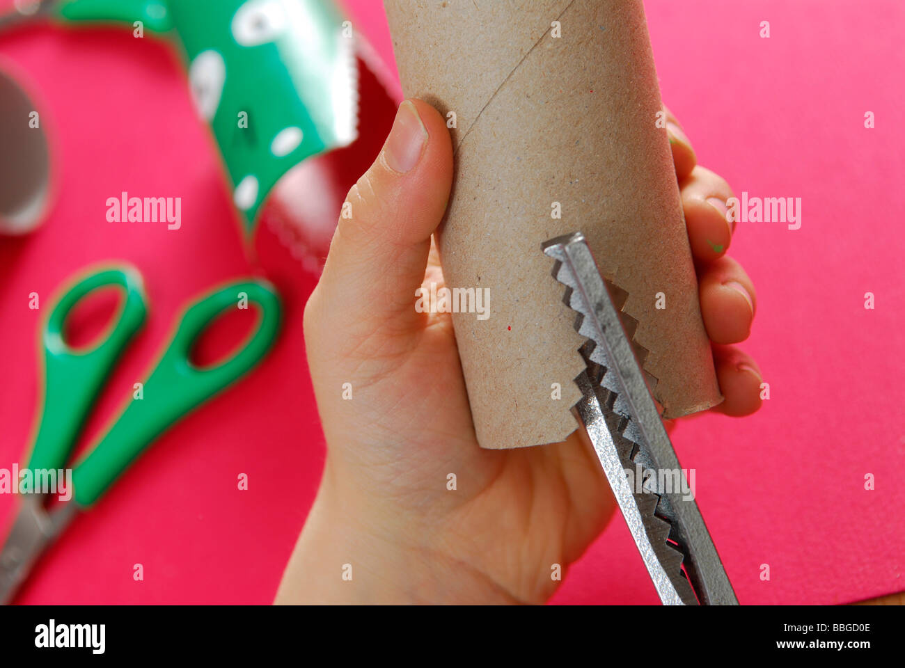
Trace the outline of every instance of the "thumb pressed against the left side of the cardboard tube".
{"label": "thumb pressed against the left side of the cardboard tube", "polygon": [[357,319],[403,326],[421,316],[414,291],[451,184],[445,121],[426,102],[406,100],[380,155],[348,193],[318,286],[321,301],[341,303],[338,310]]}

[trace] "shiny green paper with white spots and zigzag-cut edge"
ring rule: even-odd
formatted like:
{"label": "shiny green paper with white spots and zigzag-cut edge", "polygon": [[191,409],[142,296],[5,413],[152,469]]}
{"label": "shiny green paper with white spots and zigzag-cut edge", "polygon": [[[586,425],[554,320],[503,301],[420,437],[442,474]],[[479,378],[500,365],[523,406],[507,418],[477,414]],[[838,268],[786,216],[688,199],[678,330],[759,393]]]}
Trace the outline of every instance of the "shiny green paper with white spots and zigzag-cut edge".
{"label": "shiny green paper with white spots and zigzag-cut edge", "polygon": [[331,0],[68,0],[56,14],[136,31],[140,21],[181,43],[246,235],[291,167],[357,137],[354,36]]}

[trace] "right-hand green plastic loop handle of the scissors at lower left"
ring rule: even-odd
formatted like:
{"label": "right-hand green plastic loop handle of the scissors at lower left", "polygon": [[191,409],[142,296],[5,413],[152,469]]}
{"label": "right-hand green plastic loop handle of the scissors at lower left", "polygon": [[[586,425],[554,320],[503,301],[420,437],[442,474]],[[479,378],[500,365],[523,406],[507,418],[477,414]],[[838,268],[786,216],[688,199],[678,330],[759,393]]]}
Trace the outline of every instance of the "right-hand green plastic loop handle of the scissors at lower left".
{"label": "right-hand green plastic loop handle of the scissors at lower left", "polygon": [[[261,309],[258,329],[233,357],[210,368],[189,358],[195,339],[221,313],[241,300]],[[169,347],[119,420],[72,472],[74,501],[87,508],[100,498],[157,436],[195,406],[250,371],[270,350],[280,327],[280,298],[262,281],[237,282],[196,302],[180,321]]]}

